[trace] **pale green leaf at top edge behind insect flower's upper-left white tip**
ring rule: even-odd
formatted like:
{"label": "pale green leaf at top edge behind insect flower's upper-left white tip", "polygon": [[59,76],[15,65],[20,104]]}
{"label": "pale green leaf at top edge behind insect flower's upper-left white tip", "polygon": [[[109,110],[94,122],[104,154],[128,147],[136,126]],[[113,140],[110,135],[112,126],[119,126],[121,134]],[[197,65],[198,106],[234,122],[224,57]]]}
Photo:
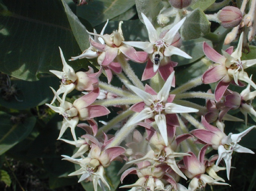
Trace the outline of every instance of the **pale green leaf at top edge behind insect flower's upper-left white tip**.
{"label": "pale green leaf at top edge behind insect flower's upper-left white tip", "polygon": [[139,19],[144,23],[141,13],[147,16],[151,23],[156,20],[160,10],[163,9],[161,0],[135,0]]}

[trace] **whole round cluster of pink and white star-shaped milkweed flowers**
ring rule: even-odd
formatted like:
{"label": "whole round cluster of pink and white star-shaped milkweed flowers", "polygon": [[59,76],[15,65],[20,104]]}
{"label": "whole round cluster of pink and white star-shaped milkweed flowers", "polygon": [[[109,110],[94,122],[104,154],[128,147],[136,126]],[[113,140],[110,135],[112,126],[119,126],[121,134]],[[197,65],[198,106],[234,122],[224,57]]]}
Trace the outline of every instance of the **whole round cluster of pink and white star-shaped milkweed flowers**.
{"label": "whole round cluster of pink and white star-shaped milkweed flowers", "polygon": [[[175,10],[191,3],[185,1],[186,6],[181,6],[178,1],[169,1]],[[256,64],[256,59],[241,60],[244,33],[235,51],[229,47],[222,50],[223,55],[203,43],[205,56],[213,65],[202,76],[171,88],[175,87],[174,67],[178,65],[172,61],[172,55],[192,59],[180,49],[182,40],[178,31],[186,17],[159,32],[144,13],[141,16],[148,31],[146,42],[125,40],[123,22],[112,34],[104,34],[108,21],[100,34],[96,30],[87,31],[90,47],[70,61],[96,58],[99,71],[89,67],[87,72],[75,72],[61,49],[63,71],[50,71],[61,79],[61,85],[57,91],[52,89],[54,99],[46,105],[63,116],[58,139],[77,148],[71,157],[63,155],[63,160],[79,166],[69,176],[78,175],[78,182],[91,181],[96,191],[98,185],[102,190],[111,190],[106,169],[118,160],[124,164],[118,169],[121,183],[129,174],[138,176],[137,181],[120,187],[131,191],[195,191],[207,185],[229,185],[217,173],[226,170],[230,178],[233,151],[254,154],[238,143],[255,126],[237,134],[225,129],[225,120],[243,123],[243,119],[228,114],[229,110],[240,109],[246,126],[247,114],[256,116],[251,105],[256,91],[250,90],[256,89],[256,84],[245,71]],[[142,79],[135,75],[129,60],[147,62]],[[108,83],[100,81],[103,73]],[[113,75],[123,82],[123,88],[111,85]],[[149,84],[141,82],[148,79]],[[189,91],[202,83],[214,82],[218,82],[214,93]],[[228,89],[232,84],[244,87],[244,83],[247,87],[241,93]],[[83,95],[71,103],[73,98],[66,99],[75,89]],[[182,100],[198,97],[205,99],[205,106]],[[103,121],[102,116],[110,113],[114,117]],[[191,125],[194,128],[189,131]],[[140,131],[136,129],[138,126]],[[77,127],[85,131],[84,135],[78,134]],[[67,128],[71,129],[73,140],[63,138]],[[108,134],[111,129],[118,130],[111,135]],[[212,156],[206,154],[207,150],[213,150]],[[188,184],[181,184],[182,179]]]}

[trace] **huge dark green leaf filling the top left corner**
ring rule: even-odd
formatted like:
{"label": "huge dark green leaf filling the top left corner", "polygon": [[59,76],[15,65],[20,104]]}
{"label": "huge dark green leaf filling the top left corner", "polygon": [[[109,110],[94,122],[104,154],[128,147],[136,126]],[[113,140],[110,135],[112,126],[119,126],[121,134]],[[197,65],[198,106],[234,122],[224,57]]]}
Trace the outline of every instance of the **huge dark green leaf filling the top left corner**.
{"label": "huge dark green leaf filling the top left corner", "polygon": [[[60,0],[1,2],[0,71],[35,81],[39,73],[62,69],[58,46],[67,59],[81,52]],[[77,70],[82,62],[69,64]]]}

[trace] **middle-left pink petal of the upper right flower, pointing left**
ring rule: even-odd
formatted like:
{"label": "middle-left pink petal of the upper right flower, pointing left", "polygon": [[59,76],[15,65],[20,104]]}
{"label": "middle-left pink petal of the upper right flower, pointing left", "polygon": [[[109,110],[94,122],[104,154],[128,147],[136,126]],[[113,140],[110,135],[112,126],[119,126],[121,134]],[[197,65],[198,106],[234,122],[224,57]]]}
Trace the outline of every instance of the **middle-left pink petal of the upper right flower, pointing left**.
{"label": "middle-left pink petal of the upper right flower, pointing left", "polygon": [[225,75],[228,75],[228,71],[226,70],[225,66],[223,65],[213,66],[202,75],[202,82],[204,84],[217,82],[220,79],[222,79]]}

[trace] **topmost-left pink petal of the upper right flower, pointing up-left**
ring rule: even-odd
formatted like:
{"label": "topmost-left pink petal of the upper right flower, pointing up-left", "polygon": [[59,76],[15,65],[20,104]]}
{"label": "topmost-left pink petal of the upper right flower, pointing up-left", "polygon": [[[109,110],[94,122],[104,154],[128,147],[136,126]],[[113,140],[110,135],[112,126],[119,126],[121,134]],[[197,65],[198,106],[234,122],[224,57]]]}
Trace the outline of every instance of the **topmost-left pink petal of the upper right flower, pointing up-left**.
{"label": "topmost-left pink petal of the upper right flower, pointing up-left", "polygon": [[208,59],[212,60],[213,62],[224,64],[225,63],[225,57],[217,53],[212,47],[210,47],[206,42],[203,44],[203,50],[205,56],[208,57]]}

